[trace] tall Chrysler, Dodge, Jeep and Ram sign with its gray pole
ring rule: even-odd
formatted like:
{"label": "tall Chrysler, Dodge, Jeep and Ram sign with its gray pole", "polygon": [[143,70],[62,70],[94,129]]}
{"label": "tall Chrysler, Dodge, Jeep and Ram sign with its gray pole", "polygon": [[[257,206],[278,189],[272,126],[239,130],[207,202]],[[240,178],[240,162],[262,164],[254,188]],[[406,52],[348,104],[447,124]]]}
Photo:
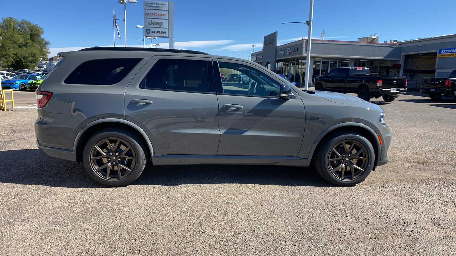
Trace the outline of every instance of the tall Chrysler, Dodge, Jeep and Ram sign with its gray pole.
{"label": "tall Chrysler, Dodge, Jeep and Ram sign with its gray pole", "polygon": [[144,36],[169,39],[169,49],[174,49],[174,3],[144,1]]}

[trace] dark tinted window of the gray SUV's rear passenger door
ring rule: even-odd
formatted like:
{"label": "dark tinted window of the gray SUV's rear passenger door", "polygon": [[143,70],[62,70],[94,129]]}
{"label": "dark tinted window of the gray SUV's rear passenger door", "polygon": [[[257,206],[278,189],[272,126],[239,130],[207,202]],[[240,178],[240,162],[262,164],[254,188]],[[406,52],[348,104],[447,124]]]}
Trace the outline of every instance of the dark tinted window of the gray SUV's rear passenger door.
{"label": "dark tinted window of the gray SUV's rear passenger door", "polygon": [[[160,59],[140,84],[142,89],[210,92],[213,75],[209,75],[210,61]],[[209,79],[212,77],[212,79]],[[212,80],[212,81],[211,81]]]}

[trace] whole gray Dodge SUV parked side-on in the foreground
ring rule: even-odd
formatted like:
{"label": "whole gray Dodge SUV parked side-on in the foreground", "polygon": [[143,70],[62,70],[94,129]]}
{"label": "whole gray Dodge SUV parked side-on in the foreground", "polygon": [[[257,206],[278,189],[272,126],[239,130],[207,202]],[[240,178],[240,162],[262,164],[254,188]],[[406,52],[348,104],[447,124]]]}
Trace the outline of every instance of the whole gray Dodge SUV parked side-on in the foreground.
{"label": "whole gray Dodge SUV parked side-on in the foreground", "polygon": [[[59,55],[36,91],[36,144],[82,162],[104,185],[130,184],[150,162],[313,164],[327,181],[349,186],[389,161],[382,108],[301,91],[251,61],[123,47]],[[220,73],[251,82],[224,82]]]}

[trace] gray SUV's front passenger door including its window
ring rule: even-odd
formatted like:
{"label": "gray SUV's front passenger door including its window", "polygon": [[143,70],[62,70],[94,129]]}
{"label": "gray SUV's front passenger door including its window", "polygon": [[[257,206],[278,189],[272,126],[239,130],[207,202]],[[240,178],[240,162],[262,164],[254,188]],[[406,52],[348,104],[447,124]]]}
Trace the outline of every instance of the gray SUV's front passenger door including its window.
{"label": "gray SUV's front passenger door including its window", "polygon": [[240,72],[251,82],[216,81],[221,133],[217,154],[297,156],[306,121],[304,104],[297,93],[293,92],[289,100],[279,98],[279,79],[253,65],[218,61],[218,66],[214,62],[215,70]]}

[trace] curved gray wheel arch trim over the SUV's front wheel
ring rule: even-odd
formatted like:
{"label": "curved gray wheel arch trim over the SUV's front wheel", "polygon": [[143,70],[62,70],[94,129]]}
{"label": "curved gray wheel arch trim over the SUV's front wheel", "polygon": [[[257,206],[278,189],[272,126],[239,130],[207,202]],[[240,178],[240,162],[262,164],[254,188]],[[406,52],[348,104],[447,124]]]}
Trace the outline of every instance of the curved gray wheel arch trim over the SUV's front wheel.
{"label": "curved gray wheel arch trim over the SUV's front wheel", "polygon": [[320,146],[320,143],[324,141],[325,138],[328,138],[334,134],[337,134],[338,132],[342,130],[352,130],[354,132],[360,133],[363,135],[365,138],[368,139],[368,141],[372,144],[372,147],[375,152],[375,162],[374,162],[374,168],[377,166],[378,159],[380,158],[380,153],[381,153],[381,145],[380,142],[378,141],[377,133],[370,128],[369,126],[362,124],[362,123],[339,123],[336,124],[330,128],[327,128],[323,133],[316,138],[314,144],[312,145],[311,151],[309,153],[309,159],[314,158],[314,154],[316,152],[316,149],[318,146]]}

